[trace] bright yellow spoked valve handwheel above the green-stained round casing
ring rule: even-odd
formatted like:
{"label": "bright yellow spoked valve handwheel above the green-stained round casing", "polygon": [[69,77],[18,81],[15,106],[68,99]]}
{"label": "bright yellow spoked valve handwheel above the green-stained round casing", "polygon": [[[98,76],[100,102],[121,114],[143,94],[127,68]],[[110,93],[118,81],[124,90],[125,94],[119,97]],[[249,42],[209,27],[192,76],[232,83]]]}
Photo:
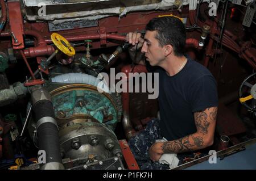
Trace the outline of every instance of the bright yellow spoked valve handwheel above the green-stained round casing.
{"label": "bright yellow spoked valve handwheel above the green-stained round casing", "polygon": [[76,54],[75,49],[69,44],[68,40],[66,40],[63,36],[59,35],[58,33],[52,33],[51,35],[52,42],[56,45],[61,52],[67,54],[68,56],[72,57]]}

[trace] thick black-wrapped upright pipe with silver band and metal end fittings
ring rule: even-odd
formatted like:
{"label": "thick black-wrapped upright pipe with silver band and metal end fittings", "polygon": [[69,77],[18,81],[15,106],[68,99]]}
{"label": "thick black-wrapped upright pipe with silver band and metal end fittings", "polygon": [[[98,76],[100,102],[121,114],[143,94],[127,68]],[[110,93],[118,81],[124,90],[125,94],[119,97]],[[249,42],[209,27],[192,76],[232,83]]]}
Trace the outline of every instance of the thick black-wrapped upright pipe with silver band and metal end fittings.
{"label": "thick black-wrapped upright pipe with silver band and metal end fittings", "polygon": [[41,85],[31,89],[32,108],[36,119],[36,136],[40,150],[46,153],[46,164],[42,170],[62,170],[58,127],[55,120],[51,96]]}

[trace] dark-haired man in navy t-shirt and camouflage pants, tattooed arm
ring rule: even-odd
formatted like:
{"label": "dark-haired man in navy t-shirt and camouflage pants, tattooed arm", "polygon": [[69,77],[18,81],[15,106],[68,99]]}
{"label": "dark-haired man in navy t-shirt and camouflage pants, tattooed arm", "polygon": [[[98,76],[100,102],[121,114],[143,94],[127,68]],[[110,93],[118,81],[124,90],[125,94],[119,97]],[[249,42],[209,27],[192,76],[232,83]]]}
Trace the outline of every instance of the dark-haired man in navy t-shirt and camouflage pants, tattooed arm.
{"label": "dark-haired man in navy t-shirt and camouflage pants, tattooed arm", "polygon": [[[128,33],[126,40],[136,45],[146,62],[134,60],[159,73],[160,120],[129,141],[141,169],[168,169],[158,161],[165,153],[184,153],[213,144],[218,106],[216,81],[201,64],[184,56],[185,27],[173,16],[154,18],[141,33]],[[141,56],[139,56],[141,58]],[[155,142],[156,140],[167,140]]]}

